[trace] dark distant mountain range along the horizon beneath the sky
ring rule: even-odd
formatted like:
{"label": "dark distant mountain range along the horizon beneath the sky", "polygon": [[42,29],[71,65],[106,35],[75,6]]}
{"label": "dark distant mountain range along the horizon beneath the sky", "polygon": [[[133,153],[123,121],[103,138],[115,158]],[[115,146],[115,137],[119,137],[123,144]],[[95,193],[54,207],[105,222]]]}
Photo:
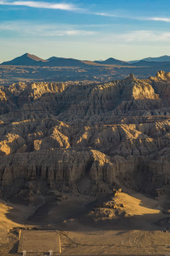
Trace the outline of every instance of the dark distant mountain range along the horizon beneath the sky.
{"label": "dark distant mountain range along the horizon beneath the sky", "polygon": [[160,56],[158,58],[144,58],[136,61],[122,61],[115,58],[108,58],[101,61],[76,60],[73,58],[57,58],[51,57],[43,60],[33,54],[25,53],[10,61],[4,61],[1,65],[18,65],[18,66],[40,66],[40,67],[88,67],[103,65],[122,65],[135,67],[155,67],[159,65],[169,65],[170,56]]}

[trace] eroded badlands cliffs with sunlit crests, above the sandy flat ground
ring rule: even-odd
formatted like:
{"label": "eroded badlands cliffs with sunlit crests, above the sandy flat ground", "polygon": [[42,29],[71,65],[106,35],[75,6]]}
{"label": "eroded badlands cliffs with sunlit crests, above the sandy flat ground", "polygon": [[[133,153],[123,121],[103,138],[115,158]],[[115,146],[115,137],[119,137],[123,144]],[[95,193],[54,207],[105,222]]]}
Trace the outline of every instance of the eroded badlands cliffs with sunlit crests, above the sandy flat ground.
{"label": "eroded badlands cliffs with sunlit crests, above the sandy flat ground", "polygon": [[106,84],[0,86],[1,194],[169,193],[169,95],[162,71]]}

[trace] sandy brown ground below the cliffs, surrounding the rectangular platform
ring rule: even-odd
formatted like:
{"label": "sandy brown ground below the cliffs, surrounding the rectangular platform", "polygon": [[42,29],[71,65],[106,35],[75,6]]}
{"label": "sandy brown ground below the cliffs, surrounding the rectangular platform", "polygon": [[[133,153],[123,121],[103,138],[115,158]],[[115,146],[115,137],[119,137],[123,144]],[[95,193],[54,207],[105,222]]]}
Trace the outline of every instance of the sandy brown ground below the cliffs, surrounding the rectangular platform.
{"label": "sandy brown ground below the cliffs, surrounding the rectangular platform", "polygon": [[35,228],[59,230],[62,255],[170,255],[168,207],[166,196],[134,191],[100,198],[34,196],[29,205],[1,202],[0,255],[17,255],[20,230]]}

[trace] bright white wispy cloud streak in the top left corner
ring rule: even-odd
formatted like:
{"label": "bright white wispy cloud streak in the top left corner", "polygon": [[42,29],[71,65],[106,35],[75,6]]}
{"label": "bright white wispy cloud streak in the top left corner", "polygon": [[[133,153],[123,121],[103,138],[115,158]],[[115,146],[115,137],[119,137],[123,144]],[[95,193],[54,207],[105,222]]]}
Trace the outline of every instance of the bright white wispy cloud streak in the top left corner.
{"label": "bright white wispy cloud streak in the top left corner", "polygon": [[11,5],[11,6],[27,6],[32,8],[46,8],[46,9],[54,9],[54,10],[67,10],[74,11],[80,10],[74,6],[74,4],[66,4],[66,3],[48,3],[48,2],[38,2],[38,1],[0,1],[1,5]]}

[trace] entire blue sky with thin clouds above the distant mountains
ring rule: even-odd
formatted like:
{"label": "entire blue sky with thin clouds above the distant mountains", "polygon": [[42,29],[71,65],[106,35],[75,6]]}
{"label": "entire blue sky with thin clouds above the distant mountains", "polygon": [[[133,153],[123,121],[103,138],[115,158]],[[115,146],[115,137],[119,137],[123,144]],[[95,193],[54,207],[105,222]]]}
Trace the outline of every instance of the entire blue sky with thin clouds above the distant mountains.
{"label": "entire blue sky with thin clouds above the distant mountains", "polygon": [[0,0],[0,63],[170,55],[169,0]]}

